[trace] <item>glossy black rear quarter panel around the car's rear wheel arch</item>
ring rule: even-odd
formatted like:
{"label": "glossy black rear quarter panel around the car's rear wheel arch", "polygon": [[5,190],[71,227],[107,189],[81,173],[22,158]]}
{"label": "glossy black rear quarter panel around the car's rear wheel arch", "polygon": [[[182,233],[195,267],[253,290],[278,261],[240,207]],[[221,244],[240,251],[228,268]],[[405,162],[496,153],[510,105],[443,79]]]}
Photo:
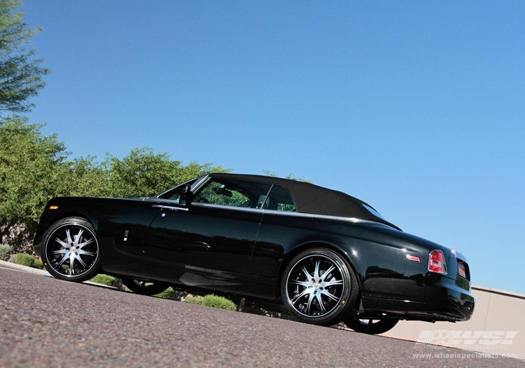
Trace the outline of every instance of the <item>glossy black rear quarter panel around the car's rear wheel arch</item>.
{"label": "glossy black rear quarter panel around the car's rear wheel arch", "polygon": [[[269,215],[268,215],[269,214]],[[428,253],[444,249],[381,224],[265,213],[251,271],[279,284],[291,258],[309,247],[330,247],[351,264],[362,297],[423,302]],[[410,261],[406,255],[419,257]]]}

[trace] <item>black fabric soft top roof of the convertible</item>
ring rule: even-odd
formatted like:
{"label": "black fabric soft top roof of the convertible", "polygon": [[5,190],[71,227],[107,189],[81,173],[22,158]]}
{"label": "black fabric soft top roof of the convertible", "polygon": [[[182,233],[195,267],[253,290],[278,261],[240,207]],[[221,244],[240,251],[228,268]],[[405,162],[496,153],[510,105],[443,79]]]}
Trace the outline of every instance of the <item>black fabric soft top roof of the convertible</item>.
{"label": "black fabric soft top roof of the convertible", "polygon": [[376,216],[365,207],[367,206],[374,210],[372,206],[363,202],[363,200],[349,196],[342,191],[334,191],[332,189],[324,188],[323,186],[298,182],[297,180],[267,177],[263,175],[212,173],[209,176],[230,179],[247,179],[284,186],[290,190],[297,212],[325,214],[339,217],[355,217],[356,219],[380,222],[381,224],[386,224],[395,229],[399,229],[398,226],[387,222],[382,217]]}

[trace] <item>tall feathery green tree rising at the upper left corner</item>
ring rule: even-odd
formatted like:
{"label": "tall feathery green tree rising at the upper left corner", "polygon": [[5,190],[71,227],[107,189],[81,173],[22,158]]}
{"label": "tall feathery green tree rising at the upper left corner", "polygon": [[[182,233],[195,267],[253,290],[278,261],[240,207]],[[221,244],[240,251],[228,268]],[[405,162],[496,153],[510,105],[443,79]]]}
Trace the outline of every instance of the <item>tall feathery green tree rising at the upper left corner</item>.
{"label": "tall feathery green tree rising at the upper left corner", "polygon": [[22,1],[0,0],[0,111],[30,111],[29,97],[38,95],[45,86],[42,76],[49,70],[36,59],[34,49],[27,48],[29,39],[40,28],[30,29],[22,20],[24,13],[15,12]]}

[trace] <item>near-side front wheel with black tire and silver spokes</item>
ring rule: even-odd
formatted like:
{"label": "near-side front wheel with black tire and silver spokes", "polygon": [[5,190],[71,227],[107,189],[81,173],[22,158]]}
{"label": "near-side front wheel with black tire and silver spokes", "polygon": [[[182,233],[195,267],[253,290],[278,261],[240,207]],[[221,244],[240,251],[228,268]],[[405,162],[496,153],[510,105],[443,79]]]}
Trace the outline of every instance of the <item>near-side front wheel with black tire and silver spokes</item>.
{"label": "near-side front wheel with black tire and silver spokes", "polygon": [[93,226],[80,217],[52,224],[42,238],[42,261],[55,278],[82,282],[99,273],[100,248]]}

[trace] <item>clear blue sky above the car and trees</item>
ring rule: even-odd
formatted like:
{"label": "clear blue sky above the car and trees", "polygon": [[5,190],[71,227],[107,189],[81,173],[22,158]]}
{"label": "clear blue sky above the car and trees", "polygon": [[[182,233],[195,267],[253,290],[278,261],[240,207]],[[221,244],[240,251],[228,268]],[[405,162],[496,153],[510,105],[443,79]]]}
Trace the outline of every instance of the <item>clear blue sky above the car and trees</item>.
{"label": "clear blue sky above the car and trees", "polygon": [[25,0],[71,156],[308,179],[525,294],[524,1]]}

